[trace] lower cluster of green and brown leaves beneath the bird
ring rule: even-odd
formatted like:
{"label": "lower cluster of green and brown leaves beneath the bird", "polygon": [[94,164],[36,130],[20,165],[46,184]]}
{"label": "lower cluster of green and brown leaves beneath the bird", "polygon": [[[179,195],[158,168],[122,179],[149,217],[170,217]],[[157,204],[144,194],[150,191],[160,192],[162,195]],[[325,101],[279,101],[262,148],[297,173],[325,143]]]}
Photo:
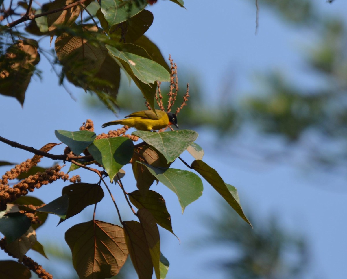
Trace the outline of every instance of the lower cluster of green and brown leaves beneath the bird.
{"label": "lower cluster of green and brown leaves beneath the bird", "polygon": [[[172,234],[170,214],[165,200],[159,193],[152,191],[154,181],[160,181],[171,189],[178,197],[182,212],[186,206],[202,195],[203,184],[200,177],[188,170],[170,168],[180,154],[187,150],[195,160],[189,165],[229,203],[229,205],[249,225],[239,203],[236,188],[226,184],[217,171],[203,162],[203,150],[194,141],[197,133],[193,130],[178,130],[153,133],[136,131],[132,133],[143,140],[134,145],[128,137],[111,137],[95,139],[96,135],[88,130],[69,132],[56,130],[57,138],[65,143],[71,153],[67,160],[71,161],[70,171],[79,167],[87,168],[98,174],[98,182],[75,183],[62,189],[62,195],[52,202],[33,209],[21,204],[41,205],[42,201],[34,197],[21,197],[1,212],[0,232],[5,235],[6,250],[20,260],[30,249],[44,255],[42,246],[36,242],[35,229],[26,215],[19,211],[33,212],[42,218],[46,214],[56,214],[60,222],[73,217],[86,206],[100,202],[104,196],[103,184],[112,194],[104,178],[110,183],[118,183],[125,199],[138,221],[123,221],[115,203],[121,226],[95,220],[74,225],[66,231],[65,239],[69,245],[73,265],[80,278],[109,278],[116,275],[130,254],[139,278],[152,278],[153,269],[156,278],[164,278],[168,271],[168,261],[160,252],[158,226]],[[50,148],[55,144],[49,144]],[[79,156],[84,152],[85,156]],[[76,160],[76,161],[75,161]],[[93,169],[88,165],[97,164],[101,169]],[[137,189],[127,193],[121,183],[125,172],[121,169],[127,163],[132,164],[133,174],[137,181]],[[28,200],[29,199],[29,200]],[[113,199],[113,197],[112,197]],[[137,208],[132,208],[130,202]],[[95,212],[94,209],[94,212]],[[44,214],[44,215],[42,215]],[[59,223],[60,223],[59,222]],[[33,246],[36,245],[36,246]],[[33,248],[34,247],[34,248]],[[2,272],[2,271],[0,271]],[[18,277],[27,278],[27,277]]]}

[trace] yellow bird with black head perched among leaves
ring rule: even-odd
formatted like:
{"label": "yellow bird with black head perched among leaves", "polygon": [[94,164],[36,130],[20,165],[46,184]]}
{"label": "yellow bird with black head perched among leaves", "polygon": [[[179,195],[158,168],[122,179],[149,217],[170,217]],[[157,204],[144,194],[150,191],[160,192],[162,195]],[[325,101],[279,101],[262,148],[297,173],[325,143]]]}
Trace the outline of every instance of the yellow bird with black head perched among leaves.
{"label": "yellow bird with black head perched among leaves", "polygon": [[135,127],[137,130],[141,131],[151,131],[159,130],[165,128],[169,125],[177,125],[177,116],[171,112],[165,112],[159,109],[155,110],[156,115],[153,110],[141,110],[133,112],[127,115],[127,118],[113,120],[102,124],[102,128],[110,125],[124,125],[129,127]]}

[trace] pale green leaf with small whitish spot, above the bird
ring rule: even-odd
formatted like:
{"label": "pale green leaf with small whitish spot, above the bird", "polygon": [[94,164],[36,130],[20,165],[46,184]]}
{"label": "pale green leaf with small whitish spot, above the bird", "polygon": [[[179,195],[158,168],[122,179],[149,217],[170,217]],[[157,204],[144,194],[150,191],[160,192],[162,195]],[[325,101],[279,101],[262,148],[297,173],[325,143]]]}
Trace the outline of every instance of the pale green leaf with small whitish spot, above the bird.
{"label": "pale green leaf with small whitish spot, above the bird", "polygon": [[106,45],[109,52],[116,57],[119,61],[127,63],[132,70],[133,74],[143,83],[150,84],[155,81],[170,81],[169,72],[160,64],[148,58],[119,51],[111,45]]}

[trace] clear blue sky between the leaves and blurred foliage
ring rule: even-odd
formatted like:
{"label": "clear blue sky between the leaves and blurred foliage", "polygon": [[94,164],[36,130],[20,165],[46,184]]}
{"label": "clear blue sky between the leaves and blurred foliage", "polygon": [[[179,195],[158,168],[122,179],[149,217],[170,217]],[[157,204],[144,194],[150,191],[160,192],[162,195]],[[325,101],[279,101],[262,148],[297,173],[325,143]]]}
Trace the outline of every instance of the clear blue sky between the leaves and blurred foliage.
{"label": "clear blue sky between the leaves and blurred foliage", "polygon": [[[347,8],[347,3],[341,0],[335,0],[332,5],[324,0],[316,2],[320,10],[329,13],[341,13]],[[167,0],[158,1],[150,8],[154,22],[146,34],[158,45],[164,57],[171,54],[178,64],[178,74],[180,68],[198,74],[200,88],[209,101],[214,99],[218,102],[222,86],[227,81],[232,82],[232,92],[237,96],[250,91],[254,88],[252,81],[256,71],[281,69],[290,77],[298,77],[298,82],[315,82],[314,79],[299,78],[303,69],[298,51],[312,43],[314,38],[302,30],[286,26],[265,7],[260,6],[259,29],[255,35],[256,9],[251,1],[192,0],[186,1],[185,6],[186,10]],[[49,48],[49,41],[46,42],[44,47]],[[64,88],[58,86],[55,74],[43,57],[40,64],[44,79],[41,82],[35,77],[31,82],[23,109],[16,100],[0,95],[0,135],[40,148],[48,142],[57,142],[55,129],[78,130],[87,118],[94,121],[96,133],[104,132],[101,124],[115,116],[106,110],[91,112],[83,102],[85,93],[69,86],[77,101],[71,100]],[[191,101],[193,99],[194,96]],[[125,112],[121,111],[119,115],[124,116]],[[180,128],[184,128],[184,120],[179,121]],[[243,154],[235,156],[235,150],[228,147],[223,147],[227,152],[216,149],[215,142],[211,141],[206,131],[197,132],[200,133],[197,143],[205,150],[204,161],[215,168],[227,183],[238,188],[241,202],[258,212],[259,218],[276,212],[289,232],[303,233],[307,237],[312,252],[310,278],[347,278],[346,177],[322,174],[318,170],[307,173],[291,163],[268,163],[261,158],[254,161]],[[22,162],[32,156],[3,143],[0,143],[0,148],[1,160]],[[55,154],[59,152],[60,147],[52,150]],[[300,159],[300,154],[298,156]],[[192,160],[188,154],[185,158],[188,162]],[[41,163],[42,166],[51,164],[50,160]],[[174,167],[184,168],[179,162],[175,162]],[[1,172],[5,170],[0,169]],[[83,181],[88,179],[96,181],[87,173],[82,175]],[[133,189],[133,181],[129,178],[123,183],[129,191]],[[65,185],[45,186],[35,191],[34,195],[48,202],[60,195]],[[169,189],[158,185],[154,190],[166,198],[174,231],[181,240],[179,244],[174,236],[161,230],[161,250],[170,261],[167,278],[225,278],[222,273],[207,267],[214,257],[228,252],[217,249],[203,251],[192,245],[195,237],[205,229],[200,219],[210,211],[217,214],[213,208],[222,199],[204,184],[203,196],[181,215],[177,197]],[[97,216],[104,221],[115,222],[116,215],[110,199],[105,196],[104,201],[102,206],[98,206],[100,211]],[[52,235],[64,239],[65,231],[76,222],[90,220],[91,212],[92,208],[88,208],[79,220],[71,218],[58,227],[58,218],[51,216],[46,225],[37,231],[38,240],[44,243]],[[45,265],[45,260],[37,253],[31,252],[29,256]],[[7,259],[2,252],[0,257]]]}

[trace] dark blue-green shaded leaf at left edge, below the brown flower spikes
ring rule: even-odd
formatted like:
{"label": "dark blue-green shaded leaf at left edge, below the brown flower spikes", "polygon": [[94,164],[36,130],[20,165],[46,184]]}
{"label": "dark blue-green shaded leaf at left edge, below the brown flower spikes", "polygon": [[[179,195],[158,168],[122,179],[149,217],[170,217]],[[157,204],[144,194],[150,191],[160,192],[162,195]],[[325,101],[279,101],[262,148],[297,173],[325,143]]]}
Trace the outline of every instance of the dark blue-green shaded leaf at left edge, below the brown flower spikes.
{"label": "dark blue-green shaded leaf at left edge, below the brown flower spikes", "polygon": [[0,233],[6,237],[6,242],[9,244],[24,235],[31,222],[23,213],[5,213],[6,211],[0,211]]}

